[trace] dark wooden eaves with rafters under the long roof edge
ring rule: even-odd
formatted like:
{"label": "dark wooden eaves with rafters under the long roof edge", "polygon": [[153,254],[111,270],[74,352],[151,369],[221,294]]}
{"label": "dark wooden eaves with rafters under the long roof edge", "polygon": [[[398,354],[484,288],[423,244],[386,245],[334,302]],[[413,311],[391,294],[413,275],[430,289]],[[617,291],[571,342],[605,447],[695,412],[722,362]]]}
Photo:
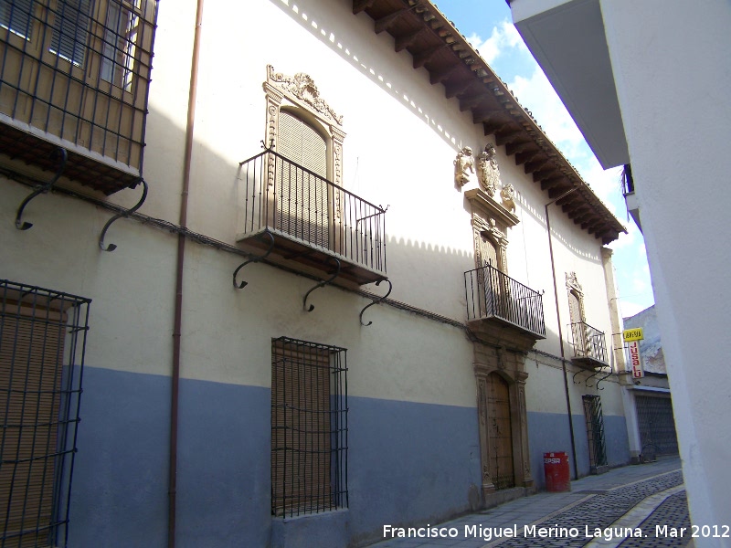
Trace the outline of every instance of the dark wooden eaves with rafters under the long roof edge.
{"label": "dark wooden eaves with rafters under the long roof edge", "polygon": [[556,148],[529,111],[455,26],[429,0],[353,0],[355,15],[365,12],[374,20],[376,34],[387,32],[396,51],[406,49],[414,68],[426,68],[432,85],[442,84],[447,99],[460,101],[471,111],[485,135],[504,146],[525,174],[531,174],[549,200],[556,201],[574,223],[602,244],[617,239],[626,228],[584,182],[576,168]]}

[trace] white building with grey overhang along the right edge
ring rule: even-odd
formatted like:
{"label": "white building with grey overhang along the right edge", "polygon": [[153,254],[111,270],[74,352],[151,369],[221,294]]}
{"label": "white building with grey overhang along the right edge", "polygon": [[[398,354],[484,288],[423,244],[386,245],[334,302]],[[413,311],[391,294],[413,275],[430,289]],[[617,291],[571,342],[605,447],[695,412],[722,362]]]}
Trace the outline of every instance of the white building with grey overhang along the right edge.
{"label": "white building with grey overhang along the right edge", "polygon": [[[726,90],[731,6],[722,0],[513,0],[515,26],[605,168],[627,165],[673,389],[694,523],[731,522],[724,291]],[[681,81],[678,77],[682,75]],[[703,106],[702,106],[703,105]],[[715,545],[696,539],[698,545]]]}

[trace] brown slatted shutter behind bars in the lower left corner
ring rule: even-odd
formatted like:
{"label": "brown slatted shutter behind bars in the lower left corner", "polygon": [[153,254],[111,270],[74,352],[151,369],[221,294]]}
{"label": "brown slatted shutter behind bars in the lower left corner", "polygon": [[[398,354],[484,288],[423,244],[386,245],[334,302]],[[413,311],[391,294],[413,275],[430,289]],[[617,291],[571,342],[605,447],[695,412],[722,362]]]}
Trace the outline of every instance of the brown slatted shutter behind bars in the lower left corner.
{"label": "brown slatted shutter behind bars in the lower left corner", "polygon": [[0,537],[18,547],[47,546],[66,319],[58,311],[13,310],[0,318],[0,515],[7,518]]}

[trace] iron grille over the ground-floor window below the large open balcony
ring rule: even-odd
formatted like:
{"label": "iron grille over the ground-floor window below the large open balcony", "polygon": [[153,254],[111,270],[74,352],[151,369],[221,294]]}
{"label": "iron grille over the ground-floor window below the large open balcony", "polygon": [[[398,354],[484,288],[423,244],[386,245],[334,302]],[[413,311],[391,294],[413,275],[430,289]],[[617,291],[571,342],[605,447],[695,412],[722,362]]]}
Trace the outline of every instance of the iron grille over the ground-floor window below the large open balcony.
{"label": "iron grille over the ground-floor window below the large open balcony", "polygon": [[271,513],[346,508],[346,350],[271,342]]}

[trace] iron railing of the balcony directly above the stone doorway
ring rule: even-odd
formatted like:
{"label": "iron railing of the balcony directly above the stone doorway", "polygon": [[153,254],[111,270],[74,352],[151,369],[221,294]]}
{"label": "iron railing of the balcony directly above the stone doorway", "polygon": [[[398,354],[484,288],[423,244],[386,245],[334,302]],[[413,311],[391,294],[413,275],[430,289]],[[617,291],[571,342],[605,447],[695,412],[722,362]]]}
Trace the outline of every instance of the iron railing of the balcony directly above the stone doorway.
{"label": "iron railing of the balcony directly above the stone doorway", "polygon": [[546,337],[543,296],[487,265],[464,273],[468,320],[495,318]]}

